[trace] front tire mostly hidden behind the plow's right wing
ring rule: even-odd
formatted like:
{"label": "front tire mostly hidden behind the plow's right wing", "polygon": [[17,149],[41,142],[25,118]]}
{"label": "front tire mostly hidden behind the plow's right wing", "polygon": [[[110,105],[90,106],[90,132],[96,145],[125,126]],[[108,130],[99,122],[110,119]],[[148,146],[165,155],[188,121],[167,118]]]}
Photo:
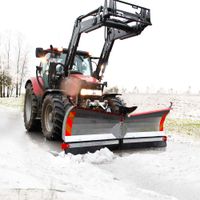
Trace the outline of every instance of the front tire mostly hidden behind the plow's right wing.
{"label": "front tire mostly hidden behind the plow's right wing", "polygon": [[125,106],[125,103],[119,97],[108,97],[106,100],[112,113],[120,114],[120,107]]}

